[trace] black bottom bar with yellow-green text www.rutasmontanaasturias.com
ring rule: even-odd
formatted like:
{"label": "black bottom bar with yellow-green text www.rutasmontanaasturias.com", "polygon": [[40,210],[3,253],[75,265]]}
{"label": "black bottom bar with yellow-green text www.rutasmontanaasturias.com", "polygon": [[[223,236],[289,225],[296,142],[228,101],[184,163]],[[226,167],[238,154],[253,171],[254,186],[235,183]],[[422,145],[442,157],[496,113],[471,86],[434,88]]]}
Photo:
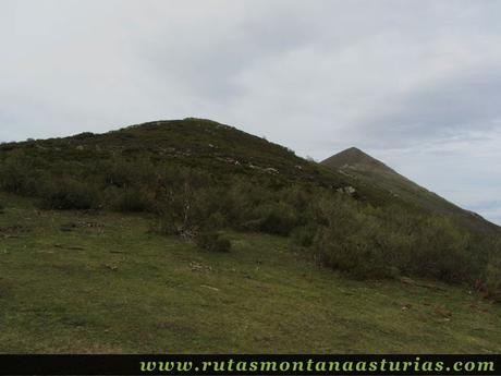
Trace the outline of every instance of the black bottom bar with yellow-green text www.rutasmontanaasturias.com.
{"label": "black bottom bar with yellow-green text www.rutasmontanaasturias.com", "polygon": [[0,375],[501,375],[501,354],[0,355]]}

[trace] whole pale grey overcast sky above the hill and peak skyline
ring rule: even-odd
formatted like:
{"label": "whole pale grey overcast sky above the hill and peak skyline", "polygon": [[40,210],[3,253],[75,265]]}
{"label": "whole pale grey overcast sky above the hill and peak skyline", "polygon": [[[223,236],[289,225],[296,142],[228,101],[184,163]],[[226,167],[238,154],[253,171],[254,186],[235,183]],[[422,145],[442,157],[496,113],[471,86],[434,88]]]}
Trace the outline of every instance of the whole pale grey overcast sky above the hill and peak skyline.
{"label": "whole pale grey overcast sky above the hill and peak skyline", "polygon": [[0,0],[0,141],[209,118],[501,223],[501,1]]}

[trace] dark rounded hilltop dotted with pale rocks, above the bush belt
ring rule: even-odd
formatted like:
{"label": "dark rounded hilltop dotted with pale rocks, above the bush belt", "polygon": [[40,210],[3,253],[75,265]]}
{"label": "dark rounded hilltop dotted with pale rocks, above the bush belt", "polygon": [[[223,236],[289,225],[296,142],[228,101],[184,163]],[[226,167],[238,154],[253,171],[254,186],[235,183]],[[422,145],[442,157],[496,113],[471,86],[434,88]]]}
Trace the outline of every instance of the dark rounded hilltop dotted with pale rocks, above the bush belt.
{"label": "dark rounded hilltop dotted with pale rocks, above the bush belt", "polygon": [[65,138],[4,144],[0,148],[3,155],[20,150],[47,163],[71,160],[84,165],[123,157],[203,168],[218,174],[267,173],[325,182],[333,179],[285,147],[204,119],[156,121],[105,134],[82,133]]}

